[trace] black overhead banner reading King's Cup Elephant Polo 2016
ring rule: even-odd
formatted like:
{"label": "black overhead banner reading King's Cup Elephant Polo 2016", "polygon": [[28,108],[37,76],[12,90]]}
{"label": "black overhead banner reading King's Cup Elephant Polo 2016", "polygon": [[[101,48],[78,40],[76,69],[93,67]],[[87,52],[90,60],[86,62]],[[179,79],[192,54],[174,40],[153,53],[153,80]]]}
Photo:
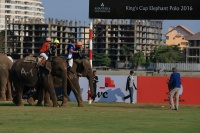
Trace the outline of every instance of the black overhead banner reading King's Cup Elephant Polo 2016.
{"label": "black overhead banner reading King's Cup Elephant Polo 2016", "polygon": [[200,0],[90,0],[89,18],[200,20]]}

